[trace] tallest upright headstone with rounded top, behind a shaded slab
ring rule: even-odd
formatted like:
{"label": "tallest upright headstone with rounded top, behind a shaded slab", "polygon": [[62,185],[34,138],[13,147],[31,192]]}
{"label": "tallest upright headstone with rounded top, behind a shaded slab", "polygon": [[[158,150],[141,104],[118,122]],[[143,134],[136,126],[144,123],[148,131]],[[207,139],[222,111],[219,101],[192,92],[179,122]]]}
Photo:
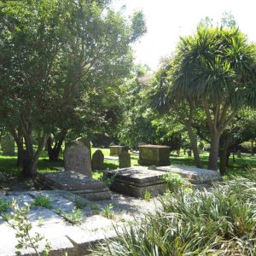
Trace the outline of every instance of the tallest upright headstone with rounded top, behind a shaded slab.
{"label": "tallest upright headstone with rounded top, behind a shaded slab", "polygon": [[89,148],[80,141],[68,143],[64,150],[64,166],[67,172],[78,172],[91,177]]}

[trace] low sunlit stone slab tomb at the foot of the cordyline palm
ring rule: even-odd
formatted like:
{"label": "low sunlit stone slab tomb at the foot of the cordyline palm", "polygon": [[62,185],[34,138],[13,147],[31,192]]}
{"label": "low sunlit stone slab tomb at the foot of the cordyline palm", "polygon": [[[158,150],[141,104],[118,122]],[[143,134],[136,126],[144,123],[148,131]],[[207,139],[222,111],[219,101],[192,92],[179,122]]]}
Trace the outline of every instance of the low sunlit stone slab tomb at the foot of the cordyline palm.
{"label": "low sunlit stone slab tomb at the foot of the cordyline palm", "polygon": [[156,167],[155,170],[158,172],[179,173],[182,177],[189,178],[189,182],[193,184],[212,183],[222,180],[222,177],[217,171],[192,166],[159,166]]}

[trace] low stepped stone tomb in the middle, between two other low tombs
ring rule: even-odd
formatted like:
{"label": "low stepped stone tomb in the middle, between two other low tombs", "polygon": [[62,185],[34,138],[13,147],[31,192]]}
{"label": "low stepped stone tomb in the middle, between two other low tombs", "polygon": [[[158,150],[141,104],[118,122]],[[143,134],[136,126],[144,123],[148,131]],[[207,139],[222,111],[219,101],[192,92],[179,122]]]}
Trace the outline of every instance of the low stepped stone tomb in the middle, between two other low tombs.
{"label": "low stepped stone tomb in the middle, between two other low tombs", "polygon": [[143,167],[130,167],[108,171],[108,177],[114,176],[110,189],[123,195],[143,198],[146,191],[151,195],[166,192],[166,183],[160,177],[166,172],[152,171]]}

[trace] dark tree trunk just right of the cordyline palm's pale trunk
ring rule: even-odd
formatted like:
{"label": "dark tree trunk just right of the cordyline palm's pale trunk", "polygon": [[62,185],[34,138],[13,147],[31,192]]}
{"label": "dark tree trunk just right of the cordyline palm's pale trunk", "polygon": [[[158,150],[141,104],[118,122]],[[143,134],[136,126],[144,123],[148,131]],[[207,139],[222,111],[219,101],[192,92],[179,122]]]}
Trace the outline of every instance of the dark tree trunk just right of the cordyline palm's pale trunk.
{"label": "dark tree trunk just right of the cordyline palm's pale trunk", "polygon": [[224,131],[219,139],[219,172],[224,176],[227,171],[231,136],[229,131]]}

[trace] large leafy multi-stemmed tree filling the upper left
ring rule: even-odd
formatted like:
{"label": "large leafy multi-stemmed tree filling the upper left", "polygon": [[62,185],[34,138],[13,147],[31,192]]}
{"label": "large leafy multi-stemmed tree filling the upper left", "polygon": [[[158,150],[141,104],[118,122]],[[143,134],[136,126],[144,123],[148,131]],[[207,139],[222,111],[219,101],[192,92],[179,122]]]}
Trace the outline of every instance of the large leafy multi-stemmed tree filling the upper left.
{"label": "large leafy multi-stemmed tree filling the upper left", "polygon": [[[145,32],[143,15],[125,20],[108,2],[0,3],[0,113],[26,175],[35,173],[52,127],[73,116],[89,90],[104,95],[112,79],[116,85],[129,72],[131,44]],[[41,133],[36,153],[35,129]]]}

